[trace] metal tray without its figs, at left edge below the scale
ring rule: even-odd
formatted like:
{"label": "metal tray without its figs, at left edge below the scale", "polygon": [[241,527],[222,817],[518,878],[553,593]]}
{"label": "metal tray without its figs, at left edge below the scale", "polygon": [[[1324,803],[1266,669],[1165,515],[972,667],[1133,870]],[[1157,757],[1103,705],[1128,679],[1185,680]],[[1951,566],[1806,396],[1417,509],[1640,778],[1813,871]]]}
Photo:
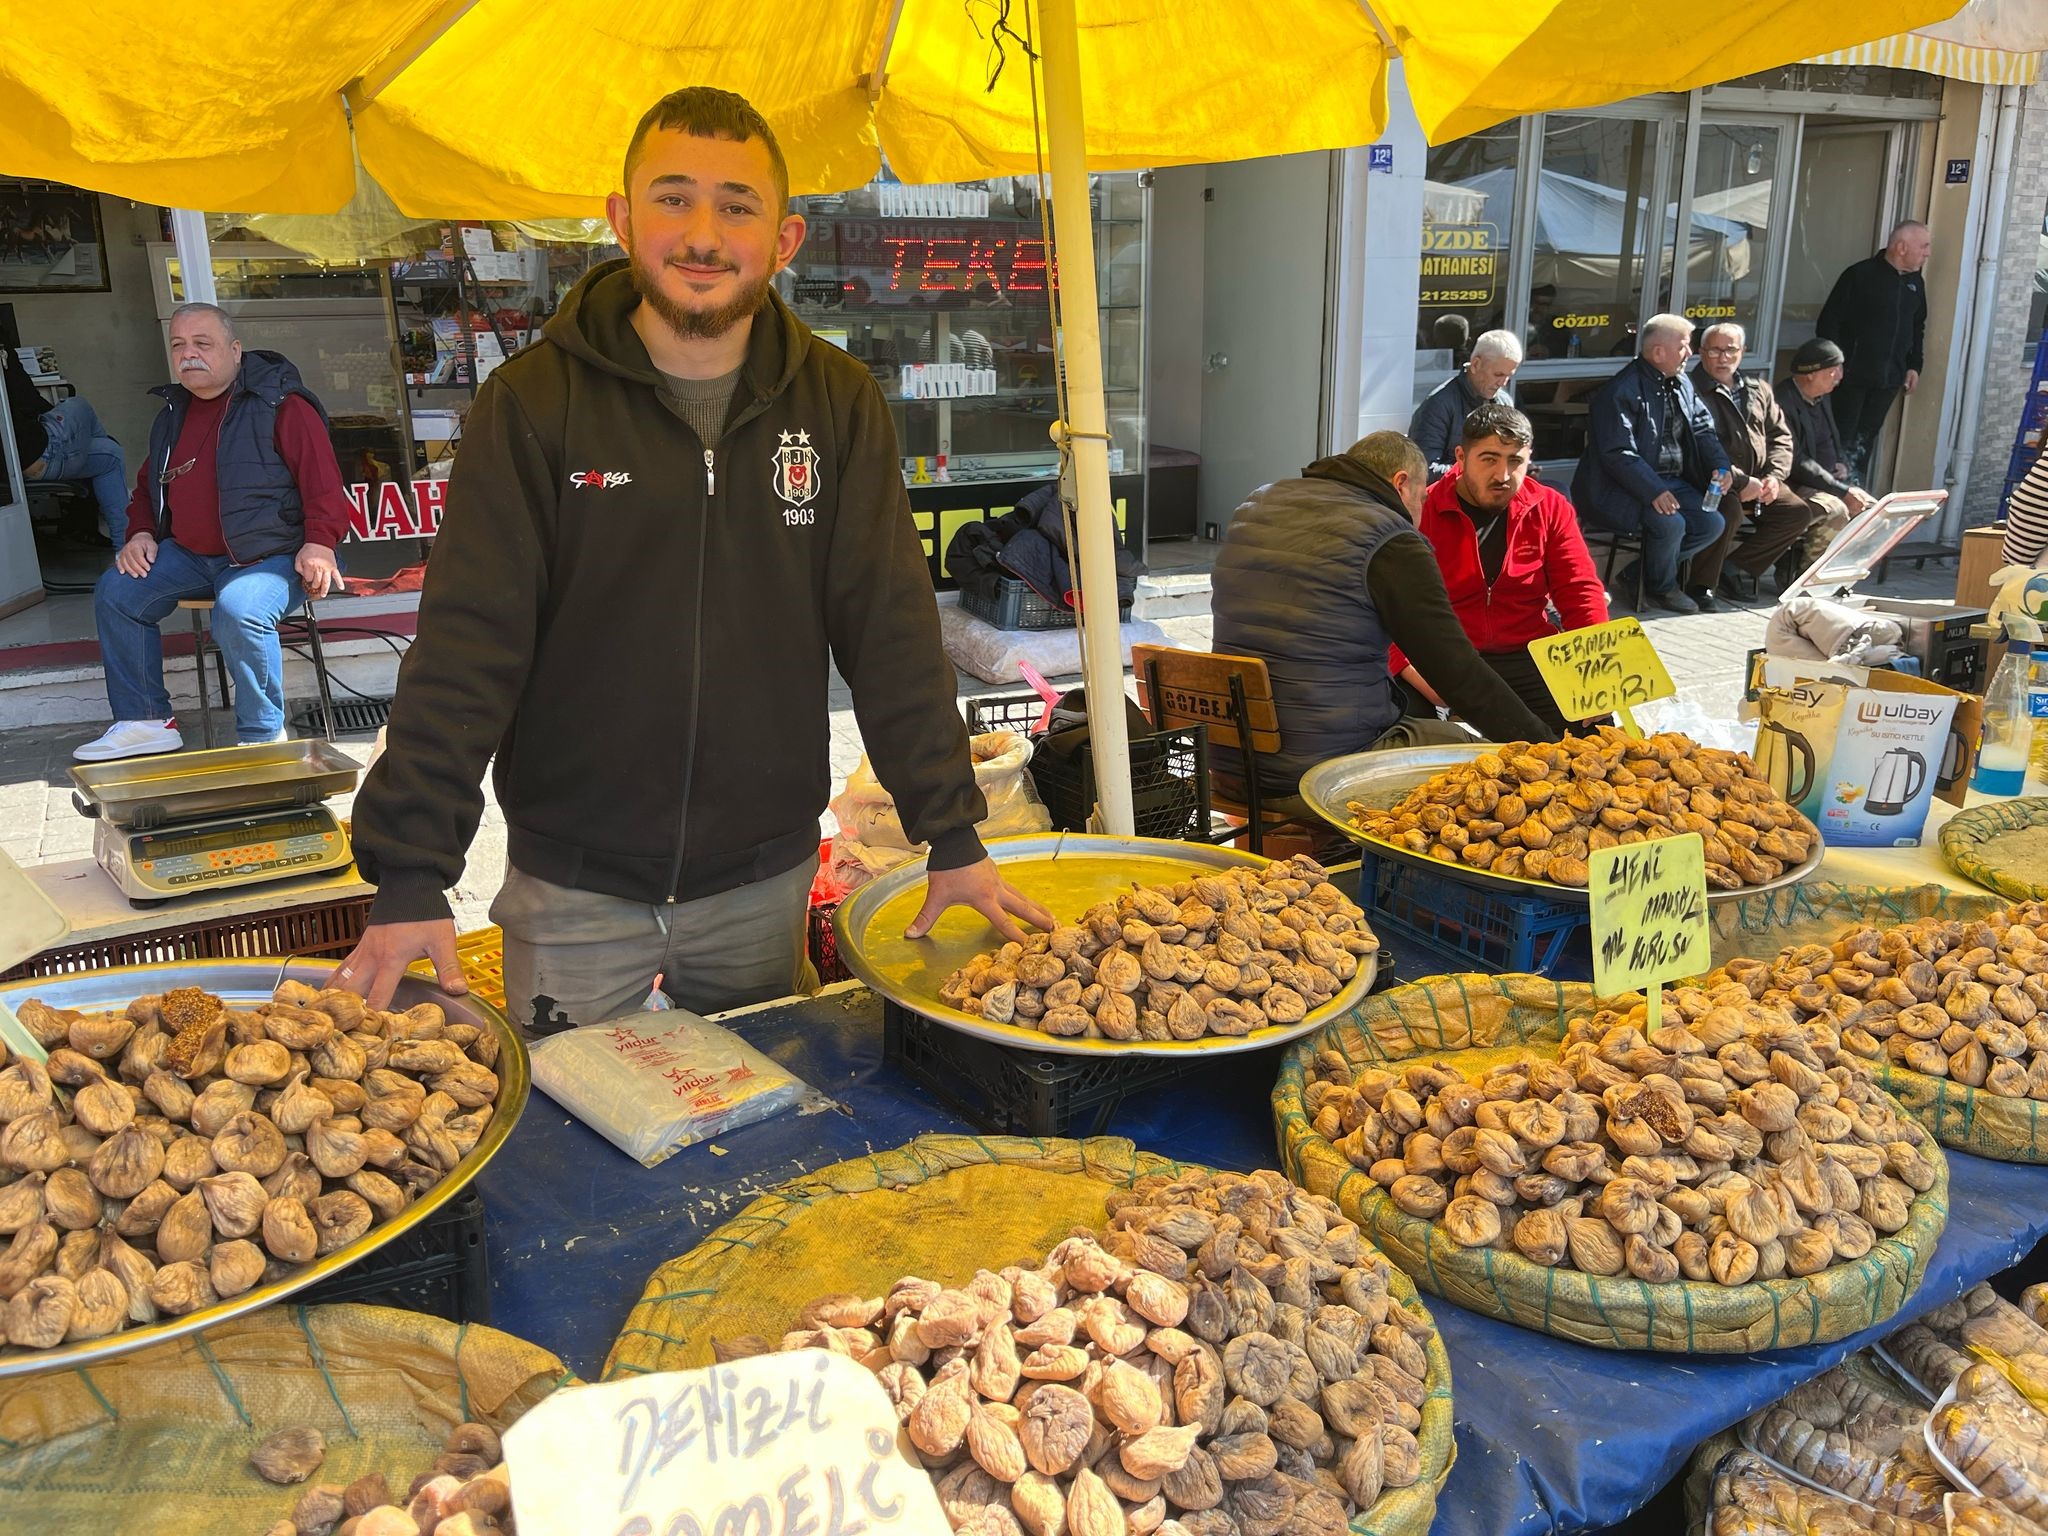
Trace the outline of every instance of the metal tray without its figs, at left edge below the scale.
{"label": "metal tray without its figs, at left edge below the scale", "polygon": [[[135,997],[143,997],[154,991],[168,991],[172,987],[205,987],[227,1004],[250,1006],[270,1001],[270,993],[281,981],[303,981],[309,987],[317,987],[332,973],[332,961],[168,961],[162,965],[125,965],[106,971],[80,971],[78,975],[14,981],[0,987],[0,1001],[10,1008],[18,1008],[29,997],[41,997],[51,1008],[111,1010],[127,1008]],[[109,1333],[100,1339],[61,1343],[55,1350],[0,1348],[0,1378],[90,1366],[94,1360],[111,1360],[115,1356],[129,1354],[131,1350],[143,1350],[152,1343],[162,1343],[164,1339],[176,1339],[186,1333],[213,1327],[215,1323],[225,1323],[229,1317],[252,1313],[258,1307],[268,1307],[295,1290],[305,1290],[309,1284],[326,1280],[330,1274],[340,1274],[356,1260],[375,1253],[399,1233],[418,1227],[440,1206],[453,1200],[463,1186],[483,1169],[498,1149],[504,1147],[506,1137],[512,1135],[512,1126],[526,1108],[526,1090],[530,1085],[526,1047],[520,1042],[518,1030],[506,1022],[504,1014],[473,995],[451,997],[432,981],[406,977],[397,983],[397,995],[391,999],[391,1006],[395,1010],[403,1010],[414,1004],[440,1004],[451,1022],[475,1024],[477,1028],[498,1032],[498,1104],[492,1110],[492,1122],[483,1128],[483,1137],[469,1151],[469,1155],[459,1161],[440,1184],[422,1194],[391,1221],[377,1223],[348,1247],[340,1247],[326,1257],[313,1260],[287,1280],[244,1290],[240,1296],[231,1296],[197,1313],[186,1313],[184,1317],[166,1317],[160,1323],[125,1327],[119,1333]]]}

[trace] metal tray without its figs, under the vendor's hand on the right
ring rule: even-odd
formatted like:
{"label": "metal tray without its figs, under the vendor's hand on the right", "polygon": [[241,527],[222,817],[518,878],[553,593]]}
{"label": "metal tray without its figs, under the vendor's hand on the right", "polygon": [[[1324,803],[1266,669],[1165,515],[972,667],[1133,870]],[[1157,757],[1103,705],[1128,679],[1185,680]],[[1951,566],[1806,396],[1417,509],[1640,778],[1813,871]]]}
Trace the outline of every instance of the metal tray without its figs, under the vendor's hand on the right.
{"label": "metal tray without its figs, under the vendor's hand on the right", "polygon": [[[1049,907],[1059,922],[1073,922],[1094,903],[1108,901],[1133,885],[1180,883],[1212,868],[1235,864],[1264,868],[1274,862],[1237,848],[1081,831],[993,838],[987,848],[1004,879]],[[831,920],[846,967],[889,1001],[946,1028],[1055,1055],[1223,1057],[1233,1051],[1264,1051],[1313,1034],[1339,1014],[1348,1014],[1372,991],[1372,977],[1378,971],[1378,954],[1358,956],[1358,973],[1343,983],[1343,989],[1321,1008],[1309,1010],[1298,1024],[1274,1024],[1251,1034],[1204,1034],[1200,1040],[1069,1040],[1024,1024],[995,1024],[942,1004],[938,989],[946,977],[1001,940],[979,911],[967,907],[948,911],[926,938],[903,938],[903,928],[922,903],[924,860],[899,864],[846,897]]]}

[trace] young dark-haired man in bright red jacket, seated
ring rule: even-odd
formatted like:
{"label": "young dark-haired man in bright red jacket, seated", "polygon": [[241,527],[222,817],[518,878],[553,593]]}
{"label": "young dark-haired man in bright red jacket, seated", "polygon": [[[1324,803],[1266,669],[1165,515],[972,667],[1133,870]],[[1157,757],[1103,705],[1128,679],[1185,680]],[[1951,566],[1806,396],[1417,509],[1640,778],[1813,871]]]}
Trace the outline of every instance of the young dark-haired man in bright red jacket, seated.
{"label": "young dark-haired man in bright red jacket, seated", "polygon": [[[1417,526],[1444,571],[1444,590],[1473,649],[1522,702],[1565,733],[1528,643],[1561,629],[1608,623],[1608,594],[1579,532],[1571,502],[1530,479],[1530,418],[1513,406],[1483,403],[1464,418],[1458,467],[1421,502]],[[1556,618],[1550,610],[1556,610]],[[1442,702],[1399,647],[1393,674]]]}

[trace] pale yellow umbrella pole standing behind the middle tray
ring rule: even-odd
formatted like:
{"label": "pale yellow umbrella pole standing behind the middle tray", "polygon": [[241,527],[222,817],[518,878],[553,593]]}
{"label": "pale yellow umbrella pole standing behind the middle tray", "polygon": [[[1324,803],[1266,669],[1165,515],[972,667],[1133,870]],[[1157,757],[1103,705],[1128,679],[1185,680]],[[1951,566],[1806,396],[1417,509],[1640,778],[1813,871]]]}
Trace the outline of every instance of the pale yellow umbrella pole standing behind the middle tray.
{"label": "pale yellow umbrella pole standing behind the middle tray", "polygon": [[1096,229],[1087,211],[1087,125],[1075,0],[1038,0],[1044,55],[1044,131],[1053,162],[1053,244],[1059,264],[1059,360],[1067,371],[1075,539],[1081,573],[1081,680],[1096,760],[1102,829],[1130,836],[1130,739],[1124,731],[1124,653],[1116,612],[1116,516],[1102,408],[1102,322],[1096,307]]}

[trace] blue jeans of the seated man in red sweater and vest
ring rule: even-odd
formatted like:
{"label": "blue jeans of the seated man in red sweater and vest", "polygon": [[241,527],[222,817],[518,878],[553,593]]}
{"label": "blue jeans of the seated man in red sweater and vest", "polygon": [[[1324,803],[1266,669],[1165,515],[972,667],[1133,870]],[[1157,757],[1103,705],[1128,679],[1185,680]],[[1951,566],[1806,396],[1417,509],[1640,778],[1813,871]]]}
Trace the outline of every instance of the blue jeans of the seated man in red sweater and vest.
{"label": "blue jeans of the seated man in red sweater and vest", "polygon": [[[268,741],[285,729],[285,647],[276,621],[305,602],[291,555],[236,565],[227,555],[195,555],[174,539],[156,547],[147,575],[113,565],[92,590],[106,666],[106,702],[117,721],[170,719],[164,635],[158,625],[182,598],[213,598],[213,641],[236,688],[236,739]],[[201,680],[205,698],[205,680]]]}

